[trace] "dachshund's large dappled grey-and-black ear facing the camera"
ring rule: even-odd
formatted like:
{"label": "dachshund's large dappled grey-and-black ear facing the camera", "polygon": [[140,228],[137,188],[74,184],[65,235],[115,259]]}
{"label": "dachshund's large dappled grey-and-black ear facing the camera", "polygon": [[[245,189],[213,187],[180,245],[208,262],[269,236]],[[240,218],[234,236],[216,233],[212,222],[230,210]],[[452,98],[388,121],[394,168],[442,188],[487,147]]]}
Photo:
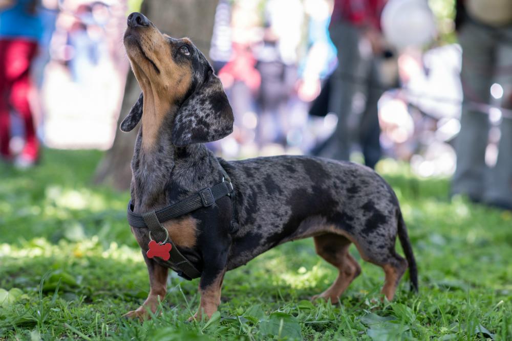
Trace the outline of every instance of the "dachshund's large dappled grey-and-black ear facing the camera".
{"label": "dachshund's large dappled grey-and-black ear facing the camera", "polygon": [[233,131],[233,121],[233,111],[222,83],[214,73],[210,73],[178,110],[173,143],[183,147],[220,140]]}

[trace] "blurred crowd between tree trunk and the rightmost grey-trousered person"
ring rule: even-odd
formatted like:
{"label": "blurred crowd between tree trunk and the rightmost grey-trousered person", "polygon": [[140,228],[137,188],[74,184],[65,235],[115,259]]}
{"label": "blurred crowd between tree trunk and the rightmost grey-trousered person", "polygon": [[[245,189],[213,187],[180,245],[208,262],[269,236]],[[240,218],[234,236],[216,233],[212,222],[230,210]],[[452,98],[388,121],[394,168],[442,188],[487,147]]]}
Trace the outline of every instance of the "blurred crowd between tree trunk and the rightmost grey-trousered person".
{"label": "blurred crowd between tree trunk and the rightmost grey-trousered person", "polygon": [[439,26],[422,0],[221,0],[210,58],[236,130],[215,147],[369,167],[388,155],[452,174],[461,53]]}

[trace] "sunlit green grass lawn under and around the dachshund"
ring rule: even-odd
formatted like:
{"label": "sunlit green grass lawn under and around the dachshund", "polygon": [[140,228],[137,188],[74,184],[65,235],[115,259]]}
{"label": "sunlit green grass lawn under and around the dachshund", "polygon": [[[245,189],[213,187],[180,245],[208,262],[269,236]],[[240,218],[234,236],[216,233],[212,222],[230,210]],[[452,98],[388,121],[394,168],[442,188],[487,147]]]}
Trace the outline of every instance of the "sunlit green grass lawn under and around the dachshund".
{"label": "sunlit green grass lawn under and around the dachshund", "polygon": [[[228,272],[220,314],[185,322],[198,280],[173,274],[151,321],[122,319],[148,290],[125,218],[128,193],[93,187],[101,153],[47,150],[21,172],[0,165],[0,339],[512,339],[512,215],[449,201],[445,179],[418,179],[381,163],[414,244],[420,293],[407,275],[380,302],[383,272],[362,274],[341,304],[314,304],[335,270],[311,239],[274,248]],[[398,247],[401,252],[400,247]]]}

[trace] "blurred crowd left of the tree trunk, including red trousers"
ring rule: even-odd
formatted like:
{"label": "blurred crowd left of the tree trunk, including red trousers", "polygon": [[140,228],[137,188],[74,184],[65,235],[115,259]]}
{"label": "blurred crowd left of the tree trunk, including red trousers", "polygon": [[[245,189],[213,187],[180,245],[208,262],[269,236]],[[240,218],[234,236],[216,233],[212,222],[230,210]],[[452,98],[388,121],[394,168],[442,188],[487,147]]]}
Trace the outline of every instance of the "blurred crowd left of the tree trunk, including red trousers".
{"label": "blurred crowd left of the tree trunk, including red trousers", "polygon": [[[128,65],[118,1],[0,1],[0,148],[19,167],[112,144]],[[93,133],[91,133],[93,131]]]}

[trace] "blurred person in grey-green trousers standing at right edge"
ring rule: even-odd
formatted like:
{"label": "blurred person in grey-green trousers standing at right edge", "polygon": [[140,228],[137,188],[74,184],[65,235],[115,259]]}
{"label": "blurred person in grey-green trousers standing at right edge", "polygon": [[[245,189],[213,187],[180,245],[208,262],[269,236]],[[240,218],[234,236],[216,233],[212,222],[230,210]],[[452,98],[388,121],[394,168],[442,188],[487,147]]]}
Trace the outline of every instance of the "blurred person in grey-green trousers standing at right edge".
{"label": "blurred person in grey-green trousers standing at right edge", "polygon": [[512,119],[502,118],[496,166],[489,169],[485,151],[490,123],[482,105],[485,111],[492,104],[490,87],[496,82],[502,88],[499,106],[512,109],[512,2],[458,0],[456,28],[462,48],[464,99],[452,194],[511,210]]}

